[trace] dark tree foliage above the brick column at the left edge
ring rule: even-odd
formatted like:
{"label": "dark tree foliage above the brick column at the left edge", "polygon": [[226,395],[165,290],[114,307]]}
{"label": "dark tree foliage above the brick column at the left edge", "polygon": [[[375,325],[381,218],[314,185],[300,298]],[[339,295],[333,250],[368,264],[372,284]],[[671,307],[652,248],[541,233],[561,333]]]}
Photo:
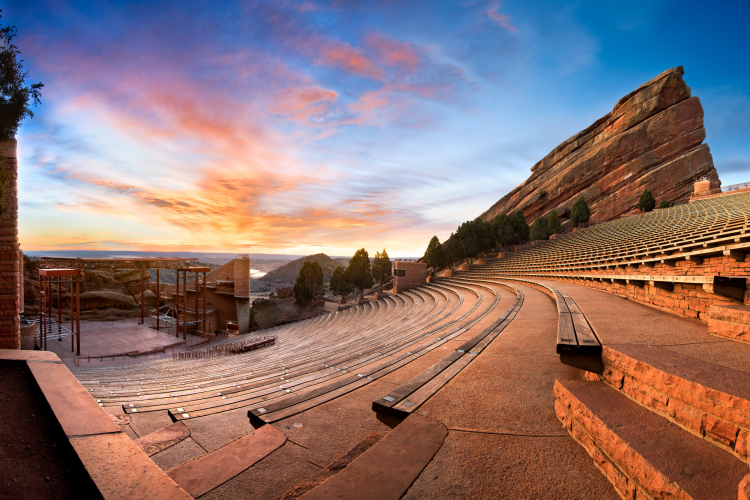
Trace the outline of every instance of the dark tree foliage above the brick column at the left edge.
{"label": "dark tree foliage above the brick column at the left edge", "polygon": [[29,100],[41,104],[44,87],[42,83],[26,86],[29,72],[23,71],[23,61],[16,57],[21,52],[11,43],[16,33],[15,26],[0,27],[0,141],[13,139],[23,119],[34,117]]}

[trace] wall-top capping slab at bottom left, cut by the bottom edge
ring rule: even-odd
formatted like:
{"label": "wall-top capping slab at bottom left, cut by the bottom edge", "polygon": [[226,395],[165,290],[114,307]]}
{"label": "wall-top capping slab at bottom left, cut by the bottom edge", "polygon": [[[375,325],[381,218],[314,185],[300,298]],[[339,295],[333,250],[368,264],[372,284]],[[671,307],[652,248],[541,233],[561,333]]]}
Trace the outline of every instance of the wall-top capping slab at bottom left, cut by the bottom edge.
{"label": "wall-top capping slab at bottom left, cut by the bottom edge", "polygon": [[70,442],[105,499],[191,498],[122,432]]}

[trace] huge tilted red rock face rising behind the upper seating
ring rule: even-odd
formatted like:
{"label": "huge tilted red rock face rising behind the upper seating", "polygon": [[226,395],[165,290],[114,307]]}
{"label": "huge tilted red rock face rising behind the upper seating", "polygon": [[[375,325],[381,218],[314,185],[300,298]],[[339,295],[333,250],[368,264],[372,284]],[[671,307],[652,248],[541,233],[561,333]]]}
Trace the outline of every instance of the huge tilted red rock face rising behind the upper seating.
{"label": "huge tilted red rock face rising behind the upper seating", "polygon": [[637,211],[644,189],[662,200],[686,202],[703,176],[719,175],[703,127],[703,107],[682,79],[682,66],[626,95],[611,113],[553,149],[523,184],[481,215],[491,220],[520,209],[527,221],[556,209],[569,217],[579,195],[591,221]]}

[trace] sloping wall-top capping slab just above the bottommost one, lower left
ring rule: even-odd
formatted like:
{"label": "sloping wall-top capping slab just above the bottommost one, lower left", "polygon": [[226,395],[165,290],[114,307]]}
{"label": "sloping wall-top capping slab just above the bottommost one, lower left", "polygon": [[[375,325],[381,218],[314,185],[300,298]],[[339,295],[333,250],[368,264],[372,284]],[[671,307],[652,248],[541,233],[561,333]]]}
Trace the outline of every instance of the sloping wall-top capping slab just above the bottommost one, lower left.
{"label": "sloping wall-top capping slab just above the bottommost one, lower left", "polygon": [[120,432],[72,373],[57,363],[29,363],[39,387],[68,436]]}

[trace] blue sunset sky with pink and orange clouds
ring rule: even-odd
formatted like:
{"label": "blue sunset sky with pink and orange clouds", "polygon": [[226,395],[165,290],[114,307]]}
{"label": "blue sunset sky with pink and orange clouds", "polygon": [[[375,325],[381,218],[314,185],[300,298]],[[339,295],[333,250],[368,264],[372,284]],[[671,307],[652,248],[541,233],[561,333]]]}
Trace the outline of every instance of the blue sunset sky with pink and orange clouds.
{"label": "blue sunset sky with pink and orange clouds", "polygon": [[27,250],[420,256],[682,65],[750,181],[750,2],[3,2]]}

